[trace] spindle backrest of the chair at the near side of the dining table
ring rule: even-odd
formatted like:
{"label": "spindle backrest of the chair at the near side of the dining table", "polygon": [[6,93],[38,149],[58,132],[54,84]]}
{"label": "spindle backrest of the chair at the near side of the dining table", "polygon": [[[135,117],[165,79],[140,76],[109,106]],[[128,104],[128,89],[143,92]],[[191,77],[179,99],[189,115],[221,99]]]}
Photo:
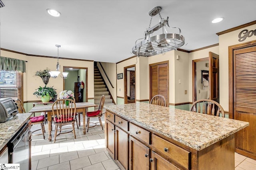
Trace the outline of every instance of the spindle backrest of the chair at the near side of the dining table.
{"label": "spindle backrest of the chair at the near side of the dining table", "polygon": [[[66,106],[66,101],[69,105]],[[52,113],[54,115],[54,122],[65,123],[74,121],[76,114],[76,103],[72,99],[59,99],[52,104]]]}

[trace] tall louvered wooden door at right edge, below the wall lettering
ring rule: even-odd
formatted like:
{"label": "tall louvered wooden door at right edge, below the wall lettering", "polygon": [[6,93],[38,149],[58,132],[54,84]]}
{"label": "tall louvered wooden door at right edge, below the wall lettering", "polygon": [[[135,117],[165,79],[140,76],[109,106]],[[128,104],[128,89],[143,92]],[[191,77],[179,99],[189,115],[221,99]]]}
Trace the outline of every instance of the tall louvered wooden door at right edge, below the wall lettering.
{"label": "tall louvered wooden door at right edge, below the wall lettering", "polygon": [[256,47],[234,50],[234,119],[250,125],[236,133],[236,152],[256,159]]}

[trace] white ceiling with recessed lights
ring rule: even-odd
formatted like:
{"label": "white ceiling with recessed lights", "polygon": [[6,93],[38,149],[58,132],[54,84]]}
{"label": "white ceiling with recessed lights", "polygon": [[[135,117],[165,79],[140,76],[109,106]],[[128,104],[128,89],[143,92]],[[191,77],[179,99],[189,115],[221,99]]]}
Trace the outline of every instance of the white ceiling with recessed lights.
{"label": "white ceiling with recessed lights", "polygon": [[[218,43],[216,33],[256,18],[256,0],[2,0],[0,47],[31,55],[102,62],[122,61],[144,37],[148,12],[161,6],[170,27],[180,27],[187,51]],[[46,9],[61,16],[50,16]],[[224,17],[220,23],[214,18]],[[159,16],[153,17],[156,25]],[[168,29],[175,32],[176,29]]]}

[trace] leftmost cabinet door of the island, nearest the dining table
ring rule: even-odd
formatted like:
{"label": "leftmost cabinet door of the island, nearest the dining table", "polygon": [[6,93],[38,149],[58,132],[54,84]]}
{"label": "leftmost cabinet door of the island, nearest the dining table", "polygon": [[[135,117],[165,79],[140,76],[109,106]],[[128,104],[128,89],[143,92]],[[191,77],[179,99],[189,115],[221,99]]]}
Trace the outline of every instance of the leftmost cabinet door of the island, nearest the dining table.
{"label": "leftmost cabinet door of the island, nearest the dining table", "polygon": [[105,141],[106,141],[106,150],[110,156],[115,159],[115,126],[110,121],[106,120],[105,122]]}

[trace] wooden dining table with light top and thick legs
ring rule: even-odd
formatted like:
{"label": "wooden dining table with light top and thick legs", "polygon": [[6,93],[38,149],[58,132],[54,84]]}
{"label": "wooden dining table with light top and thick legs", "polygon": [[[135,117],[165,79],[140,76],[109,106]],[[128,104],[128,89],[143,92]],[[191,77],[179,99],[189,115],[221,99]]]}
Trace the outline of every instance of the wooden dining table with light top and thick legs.
{"label": "wooden dining table with light top and thick legs", "polygon": [[[91,102],[78,102],[76,103],[76,113],[83,113],[83,133],[86,134],[85,115],[88,107],[96,107],[97,105]],[[56,106],[53,108],[56,111]],[[52,105],[36,105],[29,111],[30,113],[47,112],[48,121],[48,140],[52,141]],[[80,124],[80,122],[79,122]]]}

